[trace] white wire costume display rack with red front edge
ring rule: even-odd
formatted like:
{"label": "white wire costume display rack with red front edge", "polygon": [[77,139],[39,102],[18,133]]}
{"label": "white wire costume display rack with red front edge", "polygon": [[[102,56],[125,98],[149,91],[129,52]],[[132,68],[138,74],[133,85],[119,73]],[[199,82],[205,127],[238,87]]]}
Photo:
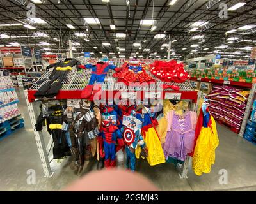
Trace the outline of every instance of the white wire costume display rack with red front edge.
{"label": "white wire costume display rack with red front edge", "polygon": [[[98,61],[97,58],[84,58],[79,57],[76,58],[81,62],[81,64],[94,64]],[[115,60],[115,61],[114,61]],[[116,65],[120,66],[125,61],[131,61],[131,59],[111,59],[111,61]],[[152,59],[140,59],[140,62],[152,63]],[[49,79],[49,75],[51,75],[52,69],[48,69],[45,71],[44,75],[40,79],[46,79],[44,83],[46,83]],[[56,97],[52,99],[81,99],[81,92],[84,87],[88,84],[90,80],[92,69],[82,69],[81,71],[77,71],[76,68],[73,68],[67,75],[67,79],[63,82],[61,90],[58,92]],[[190,85],[189,81],[183,83],[171,83],[164,82],[164,84],[168,85],[177,85],[179,86],[179,91],[173,91],[172,89],[161,89],[161,82],[159,79],[150,74],[149,71],[147,73],[156,79],[156,82],[147,86],[139,87],[127,87],[124,84],[116,83],[117,79],[112,75],[115,73],[113,70],[108,71],[108,75],[106,76],[104,83],[102,84],[102,98],[106,99],[111,103],[114,97],[119,97],[122,99],[172,99],[172,100],[190,100],[191,110],[197,110],[198,101],[200,101],[200,91],[194,91],[193,87]],[[34,84],[29,90],[25,90],[26,102],[29,110],[29,117],[31,119],[32,126],[35,127],[36,119],[38,117],[38,102],[40,99],[36,99],[34,94],[35,92],[42,86],[43,84]],[[116,96],[116,93],[120,92]],[[48,98],[49,99],[49,98]],[[37,103],[37,105],[36,105]],[[52,139],[50,138],[49,143],[45,145],[44,136],[42,131],[34,131],[36,145],[38,147],[38,152],[40,154],[40,159],[42,162],[44,176],[51,177],[53,171],[51,169],[51,161],[52,158],[49,158],[49,152],[52,147]],[[187,157],[184,163],[179,166],[180,172],[179,176],[182,179],[188,178],[188,168],[189,161],[191,157]]]}

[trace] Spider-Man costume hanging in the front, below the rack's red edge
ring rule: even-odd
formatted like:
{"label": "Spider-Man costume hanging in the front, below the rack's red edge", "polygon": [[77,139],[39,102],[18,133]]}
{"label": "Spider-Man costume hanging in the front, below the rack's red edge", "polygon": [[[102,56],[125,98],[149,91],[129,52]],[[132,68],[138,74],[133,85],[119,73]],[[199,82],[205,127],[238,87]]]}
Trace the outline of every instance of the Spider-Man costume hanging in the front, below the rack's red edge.
{"label": "Spider-Man costume hanging in the front, below the rack's red edge", "polygon": [[120,130],[112,124],[112,121],[102,121],[98,140],[103,140],[106,168],[115,166],[116,164],[116,142],[121,147],[124,146],[124,140]]}

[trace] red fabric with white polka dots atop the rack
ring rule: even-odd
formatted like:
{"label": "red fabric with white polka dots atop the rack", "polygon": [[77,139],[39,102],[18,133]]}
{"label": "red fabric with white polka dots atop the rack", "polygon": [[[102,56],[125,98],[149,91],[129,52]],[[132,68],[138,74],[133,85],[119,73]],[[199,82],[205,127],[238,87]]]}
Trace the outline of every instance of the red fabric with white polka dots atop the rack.
{"label": "red fabric with white polka dots atop the rack", "polygon": [[163,82],[185,82],[189,79],[188,73],[184,70],[182,63],[177,64],[176,61],[155,61],[150,64],[150,72]]}

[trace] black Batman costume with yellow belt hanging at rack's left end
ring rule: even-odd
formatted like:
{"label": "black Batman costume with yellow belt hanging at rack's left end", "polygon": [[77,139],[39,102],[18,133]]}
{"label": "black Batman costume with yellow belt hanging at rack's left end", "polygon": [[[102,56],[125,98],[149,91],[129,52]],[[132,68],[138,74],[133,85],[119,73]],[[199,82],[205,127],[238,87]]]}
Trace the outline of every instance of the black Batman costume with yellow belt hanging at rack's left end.
{"label": "black Batman costume with yellow belt hanging at rack's left end", "polygon": [[63,103],[55,100],[42,103],[42,111],[38,116],[35,124],[35,131],[42,131],[43,125],[47,125],[47,131],[52,135],[54,142],[53,159],[61,159],[70,156],[70,148],[68,147],[65,133],[63,133]]}

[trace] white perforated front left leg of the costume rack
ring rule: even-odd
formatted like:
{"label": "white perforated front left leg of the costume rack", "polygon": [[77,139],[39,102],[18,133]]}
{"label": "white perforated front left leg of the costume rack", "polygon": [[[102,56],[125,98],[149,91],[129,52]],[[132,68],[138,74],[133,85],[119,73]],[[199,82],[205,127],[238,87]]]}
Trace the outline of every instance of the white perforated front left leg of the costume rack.
{"label": "white perforated front left leg of the costume rack", "polygon": [[[32,127],[35,127],[35,124],[36,124],[36,107],[34,107],[35,103],[29,103],[27,90],[24,90],[24,94],[25,94],[27,105],[28,105],[28,112],[29,112],[31,124],[32,124]],[[42,131],[38,131],[38,132],[34,131],[34,135],[36,139],[36,146],[37,146],[41,163],[43,166],[43,170],[44,170],[44,177],[50,178],[52,177],[53,172],[51,170],[51,166],[49,163],[49,158],[48,158],[47,149],[45,146]]]}

